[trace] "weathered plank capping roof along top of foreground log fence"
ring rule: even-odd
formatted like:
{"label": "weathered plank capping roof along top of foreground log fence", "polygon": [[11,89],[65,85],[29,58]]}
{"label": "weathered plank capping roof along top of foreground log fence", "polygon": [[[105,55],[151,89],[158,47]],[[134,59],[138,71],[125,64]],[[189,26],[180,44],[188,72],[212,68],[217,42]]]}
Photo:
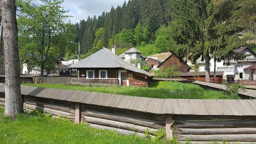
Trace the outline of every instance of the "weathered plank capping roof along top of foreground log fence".
{"label": "weathered plank capping roof along top of foreground log fence", "polygon": [[[0,92],[5,92],[5,84],[0,84]],[[153,114],[256,116],[256,100],[158,99],[32,86],[21,86],[21,94]]]}

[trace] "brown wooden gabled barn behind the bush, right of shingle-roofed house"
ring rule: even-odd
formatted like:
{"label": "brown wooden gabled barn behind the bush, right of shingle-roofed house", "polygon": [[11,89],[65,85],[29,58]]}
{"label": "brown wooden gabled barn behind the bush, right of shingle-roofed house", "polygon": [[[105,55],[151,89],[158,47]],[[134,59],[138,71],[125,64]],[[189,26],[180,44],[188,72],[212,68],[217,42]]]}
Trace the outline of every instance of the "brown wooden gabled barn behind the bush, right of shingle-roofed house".
{"label": "brown wooden gabled barn behind the bush, right of shingle-roofed house", "polygon": [[161,66],[168,67],[168,66],[174,66],[177,64],[180,65],[179,68],[177,69],[177,71],[189,72],[190,69],[192,69],[190,66],[188,66],[188,64],[186,64],[184,62],[180,62],[180,60],[173,54],[170,55],[168,58],[166,58],[166,60],[164,60],[164,62],[159,64],[158,68],[160,68]]}

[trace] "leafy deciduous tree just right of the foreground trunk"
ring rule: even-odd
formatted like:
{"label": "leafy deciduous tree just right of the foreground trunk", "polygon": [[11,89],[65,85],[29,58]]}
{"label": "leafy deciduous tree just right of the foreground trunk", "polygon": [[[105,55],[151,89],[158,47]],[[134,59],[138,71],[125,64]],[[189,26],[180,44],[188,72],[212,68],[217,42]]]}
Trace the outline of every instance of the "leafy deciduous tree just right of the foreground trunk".
{"label": "leafy deciduous tree just right of the foreground trunk", "polygon": [[[69,28],[72,27],[63,22],[69,16],[63,15],[66,11],[60,6],[62,2],[63,0],[45,0],[41,1],[42,4],[34,5],[31,0],[16,1],[20,9],[17,19],[20,60],[29,60],[28,66],[52,70],[58,63],[57,56],[60,55],[59,48],[62,48],[62,45],[54,46],[54,38],[61,34],[64,36],[60,37],[70,34]],[[65,26],[68,26],[66,30],[69,32],[64,32]],[[62,55],[64,56],[63,53]]]}

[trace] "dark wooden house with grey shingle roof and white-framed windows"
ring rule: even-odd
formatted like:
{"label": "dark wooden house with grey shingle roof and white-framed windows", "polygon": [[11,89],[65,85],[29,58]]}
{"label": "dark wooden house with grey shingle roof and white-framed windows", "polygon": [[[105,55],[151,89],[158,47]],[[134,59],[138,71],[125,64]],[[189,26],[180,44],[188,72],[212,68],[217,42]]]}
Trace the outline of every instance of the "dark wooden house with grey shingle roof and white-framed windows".
{"label": "dark wooden house with grey shingle roof and white-framed windows", "polygon": [[102,48],[69,68],[76,68],[79,74],[79,78],[71,78],[72,84],[148,86],[152,82],[152,77],[155,76],[122,60],[107,48]]}

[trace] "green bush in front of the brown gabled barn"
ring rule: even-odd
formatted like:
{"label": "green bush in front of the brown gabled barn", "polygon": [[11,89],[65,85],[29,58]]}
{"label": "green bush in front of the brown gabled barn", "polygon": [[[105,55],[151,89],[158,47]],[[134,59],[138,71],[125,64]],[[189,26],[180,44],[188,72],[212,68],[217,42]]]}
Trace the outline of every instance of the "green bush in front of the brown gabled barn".
{"label": "green bush in front of the brown gabled barn", "polygon": [[174,78],[180,73],[177,71],[179,67],[178,64],[167,68],[161,66],[160,70],[152,70],[151,73],[156,74],[155,78]]}

